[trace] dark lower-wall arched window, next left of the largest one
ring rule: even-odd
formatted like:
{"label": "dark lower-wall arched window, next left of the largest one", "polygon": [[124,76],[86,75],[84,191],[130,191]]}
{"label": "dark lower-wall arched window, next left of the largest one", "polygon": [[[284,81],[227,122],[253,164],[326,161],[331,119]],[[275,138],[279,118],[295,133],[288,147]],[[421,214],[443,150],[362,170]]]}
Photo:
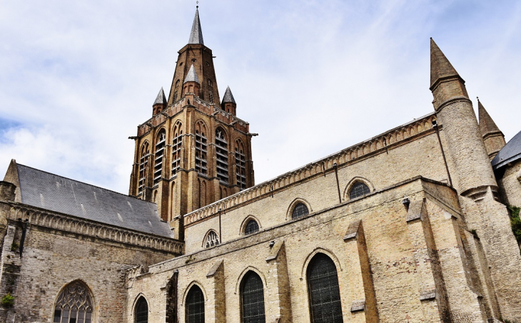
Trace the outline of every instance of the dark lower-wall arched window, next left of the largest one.
{"label": "dark lower-wall arched window, next left of the largest one", "polygon": [[265,323],[263,281],[248,272],[241,282],[241,316],[243,323]]}

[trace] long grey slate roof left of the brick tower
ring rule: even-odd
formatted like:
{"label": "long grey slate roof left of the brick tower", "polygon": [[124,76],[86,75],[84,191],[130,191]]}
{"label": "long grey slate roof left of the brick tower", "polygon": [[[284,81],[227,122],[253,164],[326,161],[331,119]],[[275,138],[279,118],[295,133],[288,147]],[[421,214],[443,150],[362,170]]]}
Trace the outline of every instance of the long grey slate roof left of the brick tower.
{"label": "long grey slate roof left of the brick tower", "polygon": [[16,164],[21,202],[130,230],[173,238],[155,203]]}

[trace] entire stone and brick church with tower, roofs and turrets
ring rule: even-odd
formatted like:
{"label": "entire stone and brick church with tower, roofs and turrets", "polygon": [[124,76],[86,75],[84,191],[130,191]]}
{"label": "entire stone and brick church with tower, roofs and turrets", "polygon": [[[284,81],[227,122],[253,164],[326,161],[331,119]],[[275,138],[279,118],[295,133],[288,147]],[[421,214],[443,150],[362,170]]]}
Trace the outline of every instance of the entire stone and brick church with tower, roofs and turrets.
{"label": "entire stone and brick church with tower, roofs and turrets", "polygon": [[432,113],[255,185],[196,11],[128,195],[11,161],[0,322],[521,322],[521,133],[430,48]]}

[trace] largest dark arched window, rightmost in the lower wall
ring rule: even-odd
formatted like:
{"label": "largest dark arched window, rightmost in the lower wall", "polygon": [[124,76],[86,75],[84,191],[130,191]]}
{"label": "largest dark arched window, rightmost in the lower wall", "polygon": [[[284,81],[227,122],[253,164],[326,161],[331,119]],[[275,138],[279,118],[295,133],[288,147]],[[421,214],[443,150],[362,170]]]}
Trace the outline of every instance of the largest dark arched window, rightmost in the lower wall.
{"label": "largest dark arched window, rightmost in the lower wall", "polygon": [[312,323],[341,323],[342,304],[335,263],[323,253],[308,265],[308,294]]}

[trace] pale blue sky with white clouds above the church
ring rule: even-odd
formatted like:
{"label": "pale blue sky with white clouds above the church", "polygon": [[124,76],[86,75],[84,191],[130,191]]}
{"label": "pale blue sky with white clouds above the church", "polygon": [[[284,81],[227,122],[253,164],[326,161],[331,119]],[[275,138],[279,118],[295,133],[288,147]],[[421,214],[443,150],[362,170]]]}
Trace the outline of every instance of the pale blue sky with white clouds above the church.
{"label": "pale blue sky with white clouds above the church", "polygon": [[[433,111],[430,37],[510,140],[521,1],[201,0],[256,183]],[[171,86],[196,1],[0,1],[0,174],[11,159],[128,193],[137,125]],[[222,98],[222,97],[221,97]]]}

